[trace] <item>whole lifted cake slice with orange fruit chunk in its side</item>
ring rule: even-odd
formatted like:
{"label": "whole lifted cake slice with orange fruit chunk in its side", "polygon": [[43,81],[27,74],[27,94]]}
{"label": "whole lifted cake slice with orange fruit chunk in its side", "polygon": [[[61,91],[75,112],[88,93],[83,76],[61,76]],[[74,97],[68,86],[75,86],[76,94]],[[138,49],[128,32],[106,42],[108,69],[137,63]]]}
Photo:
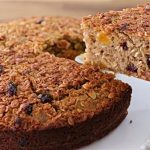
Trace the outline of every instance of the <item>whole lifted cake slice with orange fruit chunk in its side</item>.
{"label": "whole lifted cake slice with orange fruit chunk in its side", "polygon": [[86,63],[150,81],[150,4],[83,18]]}

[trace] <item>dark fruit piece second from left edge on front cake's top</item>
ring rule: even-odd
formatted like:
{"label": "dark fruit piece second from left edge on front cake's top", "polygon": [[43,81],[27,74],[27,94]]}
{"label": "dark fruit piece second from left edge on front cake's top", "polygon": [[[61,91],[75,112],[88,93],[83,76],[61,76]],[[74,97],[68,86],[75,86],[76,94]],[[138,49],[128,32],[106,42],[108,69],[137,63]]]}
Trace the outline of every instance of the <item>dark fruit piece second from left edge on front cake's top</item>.
{"label": "dark fruit piece second from left edge on front cake's top", "polygon": [[17,94],[17,85],[14,84],[12,81],[9,82],[7,92],[9,94],[9,96],[16,95]]}

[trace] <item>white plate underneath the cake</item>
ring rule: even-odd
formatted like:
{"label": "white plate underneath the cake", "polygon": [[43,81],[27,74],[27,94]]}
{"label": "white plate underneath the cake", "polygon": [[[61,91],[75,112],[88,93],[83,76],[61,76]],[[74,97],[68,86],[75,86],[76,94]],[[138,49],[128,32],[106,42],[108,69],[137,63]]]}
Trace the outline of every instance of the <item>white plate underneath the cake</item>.
{"label": "white plate underneath the cake", "polygon": [[[83,63],[80,56],[76,61]],[[121,74],[116,78],[133,89],[128,115],[110,134],[82,150],[138,150],[150,136],[150,82]]]}

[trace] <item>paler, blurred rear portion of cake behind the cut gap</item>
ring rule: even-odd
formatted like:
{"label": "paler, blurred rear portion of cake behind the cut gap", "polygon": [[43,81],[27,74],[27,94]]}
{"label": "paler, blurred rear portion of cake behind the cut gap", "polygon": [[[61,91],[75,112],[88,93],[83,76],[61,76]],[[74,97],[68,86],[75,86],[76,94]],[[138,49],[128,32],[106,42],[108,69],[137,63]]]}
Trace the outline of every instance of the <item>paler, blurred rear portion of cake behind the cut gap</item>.
{"label": "paler, blurred rear portion of cake behind the cut gap", "polygon": [[74,59],[85,49],[80,20],[71,17],[32,17],[0,24],[0,50],[48,51]]}

